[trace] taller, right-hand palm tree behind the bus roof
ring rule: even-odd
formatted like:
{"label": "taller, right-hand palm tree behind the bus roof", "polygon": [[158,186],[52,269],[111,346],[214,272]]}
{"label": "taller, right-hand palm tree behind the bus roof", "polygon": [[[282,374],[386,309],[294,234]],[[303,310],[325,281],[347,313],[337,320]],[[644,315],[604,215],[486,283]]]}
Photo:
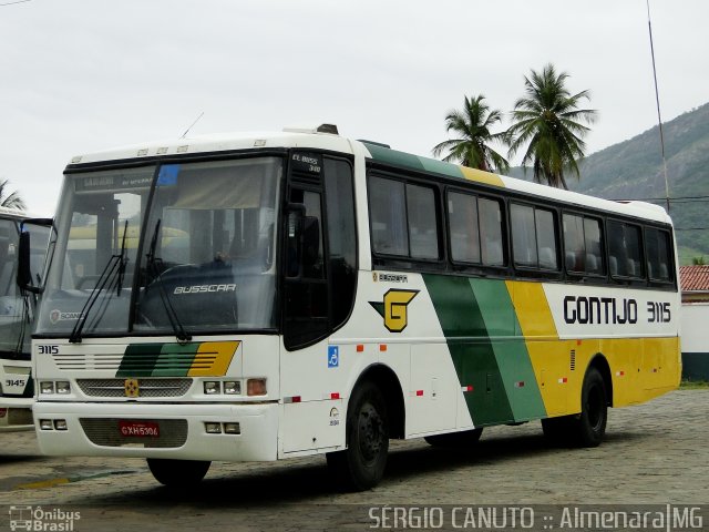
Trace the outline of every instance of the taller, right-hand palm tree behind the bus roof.
{"label": "taller, right-hand palm tree behind the bus roof", "polygon": [[586,147],[583,137],[590,131],[584,123],[596,119],[595,110],[578,109],[582,100],[589,100],[589,92],[572,95],[565,86],[567,78],[566,72],[557,74],[553,64],[525,76],[526,96],[515,102],[513,124],[506,132],[508,156],[528,143],[522,166],[532,163],[534,181],[558,188],[567,188],[565,172],[580,177],[578,161]]}

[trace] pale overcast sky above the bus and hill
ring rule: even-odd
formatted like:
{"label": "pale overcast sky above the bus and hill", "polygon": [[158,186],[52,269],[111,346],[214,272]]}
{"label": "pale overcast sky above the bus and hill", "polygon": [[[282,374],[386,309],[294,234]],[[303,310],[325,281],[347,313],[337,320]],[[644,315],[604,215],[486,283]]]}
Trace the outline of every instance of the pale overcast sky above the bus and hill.
{"label": "pale overcast sky above the bus and hill", "polygon": [[[0,178],[38,215],[73,155],[177,139],[203,112],[191,135],[331,122],[431,155],[463,95],[507,116],[552,62],[599,112],[588,154],[657,123],[646,0],[11,1]],[[709,101],[709,1],[650,13],[668,121]]]}

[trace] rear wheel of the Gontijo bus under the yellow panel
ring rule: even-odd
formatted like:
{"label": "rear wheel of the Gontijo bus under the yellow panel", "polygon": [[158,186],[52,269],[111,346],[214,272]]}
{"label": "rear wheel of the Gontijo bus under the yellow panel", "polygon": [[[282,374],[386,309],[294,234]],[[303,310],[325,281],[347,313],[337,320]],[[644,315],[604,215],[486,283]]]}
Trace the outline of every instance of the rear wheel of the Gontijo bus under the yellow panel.
{"label": "rear wheel of the Gontijo bus under the yellow panel", "polygon": [[598,447],[606,433],[607,420],[606,382],[600,371],[589,368],[580,392],[580,415],[575,419],[576,443],[579,447]]}

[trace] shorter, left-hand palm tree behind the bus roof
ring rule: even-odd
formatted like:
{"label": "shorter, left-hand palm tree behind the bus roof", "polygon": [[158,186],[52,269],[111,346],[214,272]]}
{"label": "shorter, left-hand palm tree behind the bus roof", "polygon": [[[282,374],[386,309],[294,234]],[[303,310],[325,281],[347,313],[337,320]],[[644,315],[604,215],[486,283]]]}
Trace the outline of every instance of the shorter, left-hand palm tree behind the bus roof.
{"label": "shorter, left-hand palm tree behind the bus roof", "polygon": [[455,132],[459,137],[443,141],[433,147],[433,155],[439,156],[444,150],[449,153],[443,161],[460,162],[463,166],[504,173],[510,164],[497,152],[489,146],[491,142],[504,142],[505,133],[491,133],[491,127],[502,122],[502,113],[491,110],[482,94],[475,98],[465,96],[462,111],[451,110],[445,116],[445,131]]}

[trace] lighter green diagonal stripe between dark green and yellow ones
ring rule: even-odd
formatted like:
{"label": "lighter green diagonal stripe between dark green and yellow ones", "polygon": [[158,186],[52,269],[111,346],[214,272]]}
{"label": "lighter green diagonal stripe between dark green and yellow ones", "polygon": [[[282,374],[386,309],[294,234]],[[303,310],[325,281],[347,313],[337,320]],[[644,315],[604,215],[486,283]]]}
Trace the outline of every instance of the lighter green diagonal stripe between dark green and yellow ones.
{"label": "lighter green diagonal stripe between dark green and yellow ones", "polygon": [[[515,421],[546,417],[542,392],[534,376],[522,328],[507,286],[502,280],[470,279],[475,300],[485,321],[497,368]],[[495,339],[495,337],[501,337]]]}

